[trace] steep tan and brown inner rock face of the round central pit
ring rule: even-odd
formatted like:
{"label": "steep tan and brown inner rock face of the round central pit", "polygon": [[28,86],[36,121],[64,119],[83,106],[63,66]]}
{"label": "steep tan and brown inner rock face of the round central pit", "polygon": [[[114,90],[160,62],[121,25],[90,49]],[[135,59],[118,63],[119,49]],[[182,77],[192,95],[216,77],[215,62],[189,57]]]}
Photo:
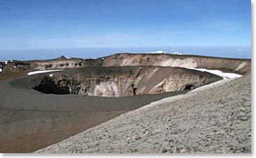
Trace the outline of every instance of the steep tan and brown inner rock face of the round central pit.
{"label": "steep tan and brown inner rock face of the round central pit", "polygon": [[[88,68],[87,68],[88,69]],[[33,87],[42,93],[122,97],[193,89],[222,77],[185,68],[110,67],[102,72],[54,74]]]}

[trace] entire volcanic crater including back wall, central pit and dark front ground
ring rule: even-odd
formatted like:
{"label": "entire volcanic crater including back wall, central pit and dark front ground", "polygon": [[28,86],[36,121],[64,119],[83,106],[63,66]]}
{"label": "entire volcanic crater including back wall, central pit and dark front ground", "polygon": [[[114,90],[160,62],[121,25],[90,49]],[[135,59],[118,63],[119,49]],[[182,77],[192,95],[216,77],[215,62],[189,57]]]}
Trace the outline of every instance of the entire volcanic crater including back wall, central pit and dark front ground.
{"label": "entire volcanic crater including back wall, central pit and dark front ground", "polygon": [[248,74],[250,65],[250,59],[172,54],[8,62],[0,80],[5,74],[61,71],[0,82],[0,152],[33,152],[122,113],[223,79],[188,68]]}

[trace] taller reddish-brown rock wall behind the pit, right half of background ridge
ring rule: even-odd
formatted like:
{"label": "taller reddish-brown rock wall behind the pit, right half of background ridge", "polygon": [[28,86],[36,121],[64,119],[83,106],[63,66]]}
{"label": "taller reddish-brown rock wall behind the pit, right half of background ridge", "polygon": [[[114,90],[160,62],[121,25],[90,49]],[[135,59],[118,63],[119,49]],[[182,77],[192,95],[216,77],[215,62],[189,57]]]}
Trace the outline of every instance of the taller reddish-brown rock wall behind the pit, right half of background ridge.
{"label": "taller reddish-brown rock wall behind the pit, right half of background ridge", "polygon": [[246,74],[250,72],[249,59],[216,58],[173,54],[114,54],[107,56],[103,66],[156,65],[165,67],[206,68]]}

